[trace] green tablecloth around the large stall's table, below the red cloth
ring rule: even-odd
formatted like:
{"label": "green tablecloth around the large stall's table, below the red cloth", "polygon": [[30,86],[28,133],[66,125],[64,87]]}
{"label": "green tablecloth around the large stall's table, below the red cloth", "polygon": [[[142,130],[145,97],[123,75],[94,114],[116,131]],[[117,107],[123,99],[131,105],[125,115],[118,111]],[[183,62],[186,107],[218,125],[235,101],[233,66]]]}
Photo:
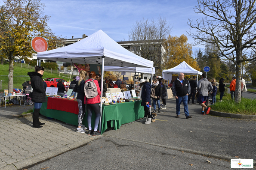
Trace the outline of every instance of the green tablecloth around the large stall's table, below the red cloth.
{"label": "green tablecloth around the large stall's table, below the red cloth", "polygon": [[[108,106],[102,105],[101,133],[108,128],[107,121],[110,121],[111,127],[117,130],[117,128],[120,128],[120,125],[122,124],[133,122],[144,117],[144,109],[140,104],[141,101],[117,103],[114,105],[110,104]],[[77,114],[47,109],[47,103],[42,104],[40,113],[46,117],[58,119],[71,125],[78,125]],[[94,127],[94,120],[95,114],[92,116],[92,127]],[[83,125],[88,127],[87,112],[83,118]]]}

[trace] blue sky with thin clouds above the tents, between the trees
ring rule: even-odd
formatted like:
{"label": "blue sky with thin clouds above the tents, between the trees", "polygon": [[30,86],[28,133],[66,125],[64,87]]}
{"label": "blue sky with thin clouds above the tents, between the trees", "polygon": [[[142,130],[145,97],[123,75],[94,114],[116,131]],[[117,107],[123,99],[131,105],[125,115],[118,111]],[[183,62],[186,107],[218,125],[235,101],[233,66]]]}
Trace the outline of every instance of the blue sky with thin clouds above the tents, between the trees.
{"label": "blue sky with thin clouds above the tents, between the trees", "polygon": [[[173,26],[172,36],[189,31],[188,18],[200,18],[194,13],[197,0],[41,0],[50,16],[49,27],[58,36],[81,38],[103,30],[115,41],[127,41],[133,24],[143,18],[166,18]],[[188,36],[188,42],[193,42]],[[196,48],[196,47],[194,47]],[[203,47],[201,47],[203,48]],[[194,49],[193,49],[194,51]]]}

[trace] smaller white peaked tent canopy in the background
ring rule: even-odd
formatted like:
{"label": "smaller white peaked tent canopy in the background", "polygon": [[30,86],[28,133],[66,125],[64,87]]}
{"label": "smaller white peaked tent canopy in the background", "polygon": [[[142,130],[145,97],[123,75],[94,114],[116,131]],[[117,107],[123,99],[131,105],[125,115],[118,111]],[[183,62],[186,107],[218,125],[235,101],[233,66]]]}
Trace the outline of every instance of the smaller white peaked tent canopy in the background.
{"label": "smaller white peaked tent canopy in the background", "polygon": [[[171,81],[172,75],[178,75],[180,72],[182,72],[184,75],[202,75],[202,72],[197,71],[196,69],[193,69],[191,66],[189,66],[185,61],[180,63],[178,66],[173,67],[168,70],[163,70],[163,79]],[[198,78],[197,78],[198,80]]]}

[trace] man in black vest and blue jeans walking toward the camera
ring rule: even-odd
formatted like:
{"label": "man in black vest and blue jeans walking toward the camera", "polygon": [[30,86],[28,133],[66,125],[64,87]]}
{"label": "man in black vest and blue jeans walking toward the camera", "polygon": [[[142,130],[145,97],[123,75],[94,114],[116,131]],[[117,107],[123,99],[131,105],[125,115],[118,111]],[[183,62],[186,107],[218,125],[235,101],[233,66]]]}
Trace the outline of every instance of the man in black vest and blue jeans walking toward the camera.
{"label": "man in black vest and blue jeans walking toward the camera", "polygon": [[191,118],[188,113],[188,95],[190,94],[190,84],[184,79],[184,74],[179,73],[179,77],[173,82],[173,95],[176,98],[176,118],[179,118],[180,104],[183,102],[186,118]]}

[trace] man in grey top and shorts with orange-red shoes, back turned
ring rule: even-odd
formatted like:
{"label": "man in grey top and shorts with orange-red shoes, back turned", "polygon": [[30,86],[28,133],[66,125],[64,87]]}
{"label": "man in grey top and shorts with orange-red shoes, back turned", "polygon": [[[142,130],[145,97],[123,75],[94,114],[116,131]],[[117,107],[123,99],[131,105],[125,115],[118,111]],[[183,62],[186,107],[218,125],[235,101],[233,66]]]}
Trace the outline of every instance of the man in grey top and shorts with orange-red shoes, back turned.
{"label": "man in grey top and shorts with orange-red shoes, back turned", "polygon": [[[211,107],[205,105],[209,92],[213,89],[212,83],[207,80],[206,74],[203,73],[202,79],[198,81],[197,90],[199,90],[199,103],[202,106],[201,114],[209,114]],[[204,112],[205,111],[205,112]]]}

